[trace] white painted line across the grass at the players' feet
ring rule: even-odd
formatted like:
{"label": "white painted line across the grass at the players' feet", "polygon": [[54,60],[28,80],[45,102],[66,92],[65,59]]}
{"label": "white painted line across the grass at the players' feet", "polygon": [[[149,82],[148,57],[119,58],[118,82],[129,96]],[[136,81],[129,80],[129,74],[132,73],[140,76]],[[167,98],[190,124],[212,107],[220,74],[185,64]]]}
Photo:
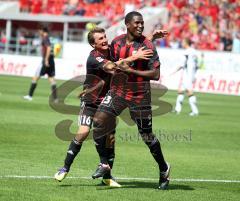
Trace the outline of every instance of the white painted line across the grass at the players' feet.
{"label": "white painted line across the grass at the players' feet", "polygon": [[[54,179],[53,176],[22,176],[22,175],[5,175],[0,179]],[[92,179],[91,177],[67,177],[67,179]],[[118,180],[135,180],[135,181],[157,181],[154,178],[138,178],[138,177],[117,177]],[[171,179],[171,181],[179,182],[217,182],[217,183],[240,183],[240,180],[221,180],[221,179]]]}

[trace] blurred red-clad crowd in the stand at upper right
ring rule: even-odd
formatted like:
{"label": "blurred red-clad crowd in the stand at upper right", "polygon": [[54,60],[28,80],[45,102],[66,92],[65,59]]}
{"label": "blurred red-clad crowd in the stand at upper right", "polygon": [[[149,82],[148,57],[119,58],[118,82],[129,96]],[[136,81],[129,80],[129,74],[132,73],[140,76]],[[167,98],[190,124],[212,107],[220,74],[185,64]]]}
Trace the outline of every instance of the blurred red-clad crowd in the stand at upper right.
{"label": "blurred red-clad crowd in the stand at upper right", "polygon": [[197,49],[240,53],[239,0],[169,0],[167,24],[157,24],[170,31],[162,47],[181,48],[191,39]]}

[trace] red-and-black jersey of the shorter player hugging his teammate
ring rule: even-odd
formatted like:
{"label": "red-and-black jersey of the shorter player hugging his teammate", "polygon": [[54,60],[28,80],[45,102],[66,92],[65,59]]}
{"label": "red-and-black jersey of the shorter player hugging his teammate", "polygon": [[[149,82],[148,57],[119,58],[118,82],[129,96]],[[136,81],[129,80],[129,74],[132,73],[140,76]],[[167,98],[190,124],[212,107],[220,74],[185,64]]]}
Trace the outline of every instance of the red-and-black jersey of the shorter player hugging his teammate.
{"label": "red-and-black jersey of the shorter player hugging his teammate", "polygon": [[[110,54],[109,54],[110,55]],[[102,88],[86,94],[82,100],[90,103],[100,104],[110,88],[111,74],[103,70],[103,66],[110,60],[97,50],[92,50],[87,59],[87,72],[84,81],[84,89],[95,87],[101,80],[105,82]]]}

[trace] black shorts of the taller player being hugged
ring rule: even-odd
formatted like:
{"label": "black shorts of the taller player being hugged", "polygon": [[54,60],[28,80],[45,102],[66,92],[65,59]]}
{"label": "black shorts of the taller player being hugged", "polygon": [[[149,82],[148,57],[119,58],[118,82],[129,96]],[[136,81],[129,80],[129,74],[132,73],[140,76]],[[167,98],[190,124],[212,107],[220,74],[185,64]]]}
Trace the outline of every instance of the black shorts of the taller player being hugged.
{"label": "black shorts of the taller player being hugged", "polygon": [[131,119],[137,124],[139,132],[151,132],[152,130],[152,107],[151,98],[145,97],[141,103],[137,104],[133,101],[125,100],[124,98],[109,91],[100,106],[98,111],[110,113],[112,116],[119,116],[121,112],[128,108]]}

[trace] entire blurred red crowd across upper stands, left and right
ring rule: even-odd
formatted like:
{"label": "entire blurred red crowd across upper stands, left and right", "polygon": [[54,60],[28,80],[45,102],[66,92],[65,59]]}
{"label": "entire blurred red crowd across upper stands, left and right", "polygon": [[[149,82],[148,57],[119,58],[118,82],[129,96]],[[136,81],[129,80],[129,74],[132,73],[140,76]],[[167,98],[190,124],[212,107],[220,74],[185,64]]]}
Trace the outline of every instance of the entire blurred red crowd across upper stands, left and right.
{"label": "entire blurred red crowd across upper stands, left and right", "polygon": [[111,24],[125,13],[143,6],[166,7],[167,24],[154,28],[170,31],[157,42],[161,47],[181,48],[191,39],[197,49],[240,53],[240,0],[20,0],[22,12],[106,17]]}

